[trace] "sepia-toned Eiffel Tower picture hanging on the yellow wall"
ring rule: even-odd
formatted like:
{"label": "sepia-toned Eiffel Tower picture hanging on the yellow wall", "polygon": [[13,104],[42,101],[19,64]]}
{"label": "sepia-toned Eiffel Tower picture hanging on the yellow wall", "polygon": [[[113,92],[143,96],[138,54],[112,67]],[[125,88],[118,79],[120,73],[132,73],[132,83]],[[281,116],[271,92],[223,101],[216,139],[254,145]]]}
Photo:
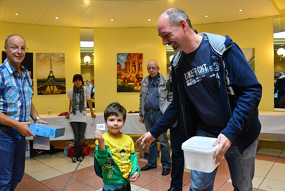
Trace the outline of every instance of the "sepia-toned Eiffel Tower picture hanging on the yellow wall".
{"label": "sepia-toned Eiffel Tower picture hanging on the yellow wall", "polygon": [[65,94],[64,53],[36,53],[37,95]]}

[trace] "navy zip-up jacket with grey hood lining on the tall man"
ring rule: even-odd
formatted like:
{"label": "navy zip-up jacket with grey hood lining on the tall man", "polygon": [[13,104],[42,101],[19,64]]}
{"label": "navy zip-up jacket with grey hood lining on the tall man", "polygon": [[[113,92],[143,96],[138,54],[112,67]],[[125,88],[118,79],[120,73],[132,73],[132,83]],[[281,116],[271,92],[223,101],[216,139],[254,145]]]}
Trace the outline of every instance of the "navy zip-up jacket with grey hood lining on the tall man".
{"label": "navy zip-up jacket with grey hood lining on the tall man", "polygon": [[[211,47],[211,62],[222,74],[216,80],[228,123],[220,133],[235,142],[242,154],[260,133],[257,107],[261,100],[261,84],[240,48],[228,36],[209,33],[200,35],[207,36]],[[173,100],[160,120],[150,129],[154,138],[171,127],[179,117],[185,136],[190,138],[196,134],[198,114],[182,84],[181,65],[185,64],[181,63],[183,54],[182,51],[178,52],[171,61]]]}

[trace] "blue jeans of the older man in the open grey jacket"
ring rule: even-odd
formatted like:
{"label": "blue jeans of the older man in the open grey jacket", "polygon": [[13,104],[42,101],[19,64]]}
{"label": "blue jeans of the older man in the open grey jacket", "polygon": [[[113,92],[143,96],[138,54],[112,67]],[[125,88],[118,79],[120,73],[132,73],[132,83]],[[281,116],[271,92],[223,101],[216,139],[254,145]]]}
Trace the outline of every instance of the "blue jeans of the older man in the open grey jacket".
{"label": "blue jeans of the older man in the open grey jacket", "polygon": [[[145,111],[144,113],[144,125],[146,131],[149,131],[157,121],[161,118],[160,111]],[[171,168],[171,159],[169,152],[169,145],[167,139],[167,132],[159,135],[158,137],[161,147],[161,159],[160,162],[164,168]],[[152,141],[149,146],[149,154],[147,164],[149,166],[156,166],[157,162],[157,139]]]}

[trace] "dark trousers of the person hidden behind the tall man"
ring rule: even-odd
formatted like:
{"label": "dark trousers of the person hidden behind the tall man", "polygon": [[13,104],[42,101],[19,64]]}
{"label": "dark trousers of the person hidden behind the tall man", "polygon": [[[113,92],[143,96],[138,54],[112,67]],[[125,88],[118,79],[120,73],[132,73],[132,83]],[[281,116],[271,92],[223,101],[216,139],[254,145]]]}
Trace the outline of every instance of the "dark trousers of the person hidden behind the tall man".
{"label": "dark trousers of the person hidden behind the tall man", "polygon": [[174,163],[171,169],[170,187],[174,189],[182,188],[183,172],[184,172],[184,153],[181,148],[183,142],[187,138],[183,132],[180,119],[178,119],[176,127],[170,127],[170,141],[171,141],[171,159]]}

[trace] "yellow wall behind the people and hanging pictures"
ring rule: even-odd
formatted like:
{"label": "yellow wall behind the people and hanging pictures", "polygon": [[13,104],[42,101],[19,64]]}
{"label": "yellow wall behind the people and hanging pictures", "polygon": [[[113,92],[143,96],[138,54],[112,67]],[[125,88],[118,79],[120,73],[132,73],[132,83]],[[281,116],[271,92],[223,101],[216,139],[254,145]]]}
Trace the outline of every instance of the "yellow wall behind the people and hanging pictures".
{"label": "yellow wall behind the people and hanging pictures", "polygon": [[[193,25],[200,32],[229,35],[240,48],[255,48],[255,74],[262,85],[260,111],[273,111],[273,23],[272,18],[227,23]],[[0,22],[0,39],[19,34],[26,40],[29,52],[34,53],[34,79],[36,79],[35,53],[64,53],[66,90],[72,87],[73,74],[80,73],[80,30],[77,27],[54,27]],[[116,92],[116,54],[143,53],[143,77],[150,59],[160,64],[160,73],[166,74],[166,49],[157,36],[156,28],[94,28],[94,81],[96,112],[118,101],[126,110],[138,111],[139,93]],[[36,81],[35,81],[36,87]],[[68,110],[67,95],[33,96],[39,114]]]}

